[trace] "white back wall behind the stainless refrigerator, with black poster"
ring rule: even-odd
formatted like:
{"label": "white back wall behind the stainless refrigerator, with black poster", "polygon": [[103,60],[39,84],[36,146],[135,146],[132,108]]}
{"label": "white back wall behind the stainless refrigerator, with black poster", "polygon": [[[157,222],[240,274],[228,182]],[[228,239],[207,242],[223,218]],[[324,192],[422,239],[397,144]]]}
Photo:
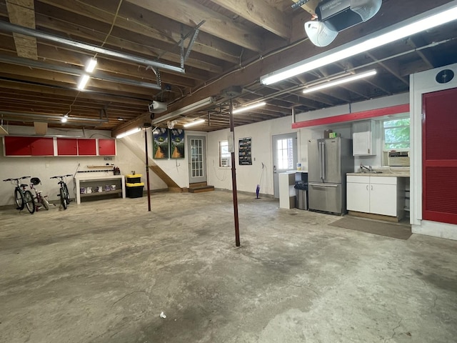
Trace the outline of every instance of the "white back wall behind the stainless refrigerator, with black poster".
{"label": "white back wall behind the stainless refrigerator, with black poster", "polygon": [[[356,111],[366,111],[398,104],[408,104],[408,94],[389,96],[382,99],[363,101],[361,103],[331,107],[318,111],[296,114],[296,121],[320,119],[328,116],[338,116]],[[342,137],[351,139],[351,123],[330,124],[326,126],[313,126],[303,129],[291,129],[292,117],[286,116],[280,119],[261,121],[256,124],[236,126],[236,183],[237,189],[243,192],[256,192],[256,185],[261,180],[261,193],[273,194],[273,151],[272,136],[297,132],[298,161],[301,161],[302,169],[308,170],[308,139],[323,137],[323,131],[331,129]],[[381,128],[376,126],[376,143],[381,150]],[[231,189],[231,169],[219,167],[219,141],[226,141],[229,129],[209,132],[207,139],[208,155],[208,182],[219,189]],[[238,165],[238,139],[252,138],[251,166]],[[262,169],[262,163],[264,165]],[[371,166],[381,166],[381,154],[376,156],[356,157],[354,170],[361,163]]]}

